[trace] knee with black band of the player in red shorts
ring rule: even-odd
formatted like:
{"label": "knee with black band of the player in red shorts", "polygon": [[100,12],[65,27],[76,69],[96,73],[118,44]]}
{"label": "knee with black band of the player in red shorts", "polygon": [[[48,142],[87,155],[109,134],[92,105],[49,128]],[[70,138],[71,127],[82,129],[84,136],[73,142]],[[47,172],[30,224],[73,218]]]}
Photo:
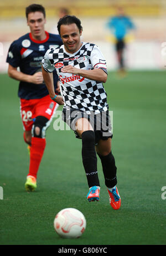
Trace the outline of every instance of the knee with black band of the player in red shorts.
{"label": "knee with black band of the player in red shorts", "polygon": [[49,120],[44,116],[37,116],[32,127],[32,136],[44,138],[45,131],[48,128],[48,121]]}

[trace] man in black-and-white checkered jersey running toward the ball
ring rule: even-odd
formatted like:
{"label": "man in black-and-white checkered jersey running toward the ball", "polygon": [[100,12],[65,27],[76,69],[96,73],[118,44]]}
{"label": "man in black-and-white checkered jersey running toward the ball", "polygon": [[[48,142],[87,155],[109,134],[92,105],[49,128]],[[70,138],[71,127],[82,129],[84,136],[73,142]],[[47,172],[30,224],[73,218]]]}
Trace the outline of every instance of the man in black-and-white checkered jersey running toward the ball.
{"label": "man in black-and-white checkered jersey running toward the ball", "polygon": [[[113,209],[119,209],[121,198],[116,187],[117,168],[111,152],[110,122],[106,118],[102,119],[101,115],[109,116],[107,95],[102,84],[107,80],[106,60],[95,44],[81,42],[81,22],[75,16],[61,18],[58,31],[63,45],[48,50],[42,60],[45,84],[50,98],[59,105],[64,104],[63,120],[75,131],[76,137],[82,139],[82,162],[89,185],[87,199],[98,201],[100,197],[97,152],[110,204]],[[60,79],[62,96],[54,92],[51,73],[55,69]],[[100,122],[102,127],[98,129]]]}

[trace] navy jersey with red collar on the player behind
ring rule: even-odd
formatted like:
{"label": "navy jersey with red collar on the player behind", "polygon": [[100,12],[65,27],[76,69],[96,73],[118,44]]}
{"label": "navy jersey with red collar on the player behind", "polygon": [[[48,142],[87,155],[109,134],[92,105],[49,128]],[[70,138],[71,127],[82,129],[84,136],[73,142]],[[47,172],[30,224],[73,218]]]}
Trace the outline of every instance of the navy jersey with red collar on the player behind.
{"label": "navy jersey with red collar on the player behind", "polygon": [[[19,67],[20,71],[27,75],[33,75],[42,71],[42,59],[48,49],[62,45],[59,35],[46,32],[46,38],[42,41],[33,39],[31,33],[27,33],[15,40],[9,47],[7,62],[14,68]],[[58,81],[56,71],[53,72],[54,86]],[[48,90],[44,84],[32,84],[20,81],[18,96],[22,99],[40,99],[48,95]]]}

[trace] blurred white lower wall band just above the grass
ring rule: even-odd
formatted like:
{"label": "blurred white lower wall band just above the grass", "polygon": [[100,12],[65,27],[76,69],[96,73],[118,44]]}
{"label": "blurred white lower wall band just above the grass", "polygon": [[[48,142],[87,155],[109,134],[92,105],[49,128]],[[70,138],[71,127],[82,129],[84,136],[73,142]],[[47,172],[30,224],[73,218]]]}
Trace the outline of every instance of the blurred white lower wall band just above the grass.
{"label": "blurred white lower wall band just above the grass", "polygon": [[[108,70],[117,69],[117,59],[114,46],[105,41],[94,41],[106,58]],[[0,56],[0,73],[7,73],[7,52],[11,42],[3,43],[3,55]],[[161,46],[158,42],[129,43],[125,52],[125,61],[129,70],[163,69],[164,62],[161,55]],[[166,65],[166,62],[165,62]]]}

